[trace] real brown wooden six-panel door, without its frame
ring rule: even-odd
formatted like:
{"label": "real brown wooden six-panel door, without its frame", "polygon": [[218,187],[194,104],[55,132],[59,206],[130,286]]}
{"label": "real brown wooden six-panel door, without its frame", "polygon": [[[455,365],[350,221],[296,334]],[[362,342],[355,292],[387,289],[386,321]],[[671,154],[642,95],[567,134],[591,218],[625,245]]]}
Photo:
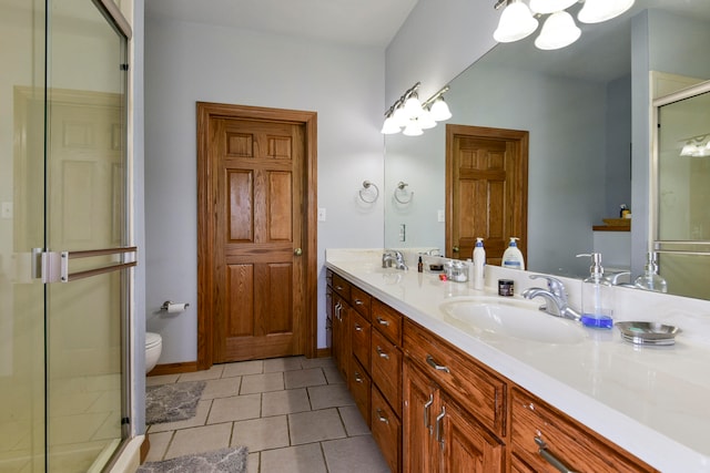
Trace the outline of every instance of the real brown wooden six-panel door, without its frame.
{"label": "real brown wooden six-panel door, without its frame", "polygon": [[287,120],[209,117],[200,212],[211,226],[201,265],[212,268],[202,274],[212,362],[307,352],[306,137]]}

